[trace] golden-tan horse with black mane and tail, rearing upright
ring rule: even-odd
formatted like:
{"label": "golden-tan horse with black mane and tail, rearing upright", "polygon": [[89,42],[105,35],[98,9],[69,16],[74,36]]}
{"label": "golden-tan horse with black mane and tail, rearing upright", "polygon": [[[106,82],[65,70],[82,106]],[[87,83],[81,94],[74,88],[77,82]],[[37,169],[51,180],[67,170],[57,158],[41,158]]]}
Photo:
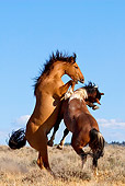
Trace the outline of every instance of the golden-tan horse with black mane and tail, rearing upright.
{"label": "golden-tan horse with black mane and tail, rearing upright", "polygon": [[[61,80],[64,74],[72,80],[64,84]],[[56,55],[53,54],[45,63],[42,74],[36,78],[34,85],[36,104],[26,124],[26,131],[19,129],[12,132],[9,139],[11,149],[22,148],[27,140],[30,146],[38,151],[37,165],[41,168],[52,172],[48,163],[47,133],[57,120],[63,96],[77,81],[83,83],[84,78],[76,62],[76,54],[67,56],[58,50]]]}

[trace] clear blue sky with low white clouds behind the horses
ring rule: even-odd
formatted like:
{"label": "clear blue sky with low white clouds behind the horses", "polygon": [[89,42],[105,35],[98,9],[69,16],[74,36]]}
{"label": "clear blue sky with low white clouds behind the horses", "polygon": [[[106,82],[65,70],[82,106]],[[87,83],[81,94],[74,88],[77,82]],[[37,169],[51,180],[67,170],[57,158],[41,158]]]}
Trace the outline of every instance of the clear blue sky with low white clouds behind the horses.
{"label": "clear blue sky with low white clouds behind the horses", "polygon": [[35,105],[33,79],[57,49],[76,53],[86,83],[105,93],[100,109],[90,111],[105,140],[125,141],[125,1],[1,0],[0,143],[26,125]]}

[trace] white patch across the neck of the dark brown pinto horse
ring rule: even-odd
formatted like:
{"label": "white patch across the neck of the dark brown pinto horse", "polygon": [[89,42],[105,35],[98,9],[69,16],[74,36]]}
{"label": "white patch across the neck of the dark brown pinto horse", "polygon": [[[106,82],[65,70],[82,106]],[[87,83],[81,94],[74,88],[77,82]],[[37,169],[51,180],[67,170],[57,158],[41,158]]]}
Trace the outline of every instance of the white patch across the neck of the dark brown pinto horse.
{"label": "white patch across the neck of the dark brown pinto horse", "polygon": [[70,96],[69,102],[73,98],[78,98],[80,101],[88,98],[88,93],[87,93],[86,89],[80,88],[77,91],[75,91],[72,93],[72,95]]}

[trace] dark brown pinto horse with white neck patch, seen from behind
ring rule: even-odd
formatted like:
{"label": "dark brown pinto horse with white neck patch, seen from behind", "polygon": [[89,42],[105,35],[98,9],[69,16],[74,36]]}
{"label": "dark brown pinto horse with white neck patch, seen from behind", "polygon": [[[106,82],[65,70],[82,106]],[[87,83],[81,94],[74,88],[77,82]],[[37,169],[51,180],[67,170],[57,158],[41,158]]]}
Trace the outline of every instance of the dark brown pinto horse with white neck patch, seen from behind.
{"label": "dark brown pinto horse with white neck patch, seen from behind", "polygon": [[[71,131],[72,148],[81,156],[83,164],[87,161],[88,154],[93,158],[95,174],[98,174],[98,159],[103,156],[104,138],[99,130],[96,120],[90,114],[87,103],[94,108],[95,105],[93,103],[100,104],[101,95],[104,95],[104,93],[100,93],[96,86],[89,83],[89,85],[75,91],[69,98],[64,101],[61,106],[61,118],[64,118],[67,129],[65,130],[60,147],[64,144],[66,135]],[[92,153],[82,150],[87,144],[91,148]]]}

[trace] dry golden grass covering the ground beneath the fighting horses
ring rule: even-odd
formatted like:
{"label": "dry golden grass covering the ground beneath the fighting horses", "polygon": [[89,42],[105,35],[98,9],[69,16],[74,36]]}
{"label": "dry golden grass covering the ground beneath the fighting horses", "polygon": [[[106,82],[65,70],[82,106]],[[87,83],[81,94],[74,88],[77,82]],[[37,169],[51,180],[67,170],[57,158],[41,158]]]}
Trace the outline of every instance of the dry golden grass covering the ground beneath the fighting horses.
{"label": "dry golden grass covering the ground beneath the fighting horses", "polygon": [[11,150],[0,147],[0,186],[123,186],[125,185],[125,147],[107,146],[94,176],[88,158],[84,168],[71,147],[63,151],[48,148],[55,177],[36,165],[37,152],[31,148]]}

